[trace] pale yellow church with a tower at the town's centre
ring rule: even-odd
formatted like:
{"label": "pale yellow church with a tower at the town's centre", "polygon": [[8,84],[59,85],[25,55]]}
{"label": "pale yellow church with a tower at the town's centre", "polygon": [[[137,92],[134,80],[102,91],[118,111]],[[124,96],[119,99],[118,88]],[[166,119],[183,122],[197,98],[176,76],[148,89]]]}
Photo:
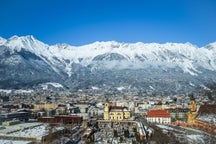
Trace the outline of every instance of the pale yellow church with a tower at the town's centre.
{"label": "pale yellow church with a tower at the town's centre", "polygon": [[108,99],[104,105],[104,120],[124,120],[130,118],[130,111],[127,107],[112,106]]}

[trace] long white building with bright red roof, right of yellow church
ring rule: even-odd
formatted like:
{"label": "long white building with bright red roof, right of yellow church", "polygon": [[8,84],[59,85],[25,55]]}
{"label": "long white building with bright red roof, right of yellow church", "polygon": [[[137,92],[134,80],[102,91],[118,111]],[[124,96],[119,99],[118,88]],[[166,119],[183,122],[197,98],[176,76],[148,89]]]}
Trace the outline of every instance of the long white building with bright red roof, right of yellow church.
{"label": "long white building with bright red roof, right of yellow church", "polygon": [[168,110],[149,110],[147,112],[147,121],[151,123],[169,124],[171,122],[170,112]]}

